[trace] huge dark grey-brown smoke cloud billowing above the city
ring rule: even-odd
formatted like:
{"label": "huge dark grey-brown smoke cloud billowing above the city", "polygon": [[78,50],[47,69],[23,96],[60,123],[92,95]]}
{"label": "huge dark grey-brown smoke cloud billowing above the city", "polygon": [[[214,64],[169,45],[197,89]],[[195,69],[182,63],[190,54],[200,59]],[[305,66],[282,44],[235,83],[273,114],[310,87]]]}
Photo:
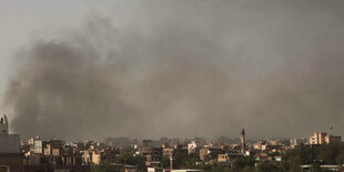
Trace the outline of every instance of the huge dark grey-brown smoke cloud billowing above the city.
{"label": "huge dark grey-brown smoke cloud billowing above the city", "polygon": [[341,0],[142,1],[17,54],[11,128],[69,140],[343,134]]}

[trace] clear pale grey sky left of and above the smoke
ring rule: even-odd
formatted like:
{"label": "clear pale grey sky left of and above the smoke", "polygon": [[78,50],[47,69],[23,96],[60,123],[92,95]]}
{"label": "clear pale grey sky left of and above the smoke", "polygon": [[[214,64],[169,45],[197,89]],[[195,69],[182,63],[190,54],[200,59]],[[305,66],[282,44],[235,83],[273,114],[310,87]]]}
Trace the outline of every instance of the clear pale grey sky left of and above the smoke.
{"label": "clear pale grey sky left of and above the smoke", "polygon": [[[9,75],[16,71],[16,64],[9,65],[11,55],[37,33],[79,26],[92,11],[123,14],[138,3],[139,0],[0,0],[0,95],[6,90]],[[2,104],[1,111],[6,111]]]}

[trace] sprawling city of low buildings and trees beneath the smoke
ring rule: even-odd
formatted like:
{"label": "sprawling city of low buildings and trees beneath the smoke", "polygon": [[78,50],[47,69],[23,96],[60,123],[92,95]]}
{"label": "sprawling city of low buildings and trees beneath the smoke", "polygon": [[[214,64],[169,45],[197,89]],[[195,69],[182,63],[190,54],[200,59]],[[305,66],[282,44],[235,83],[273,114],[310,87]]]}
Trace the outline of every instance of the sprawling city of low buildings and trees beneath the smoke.
{"label": "sprawling city of low buildings and trees beneath the smoke", "polygon": [[330,134],[314,133],[308,139],[249,141],[242,128],[237,140],[108,138],[103,142],[39,135],[20,142],[9,127],[7,115],[0,115],[0,170],[7,172],[338,171],[344,163],[342,136],[334,135],[332,127]]}

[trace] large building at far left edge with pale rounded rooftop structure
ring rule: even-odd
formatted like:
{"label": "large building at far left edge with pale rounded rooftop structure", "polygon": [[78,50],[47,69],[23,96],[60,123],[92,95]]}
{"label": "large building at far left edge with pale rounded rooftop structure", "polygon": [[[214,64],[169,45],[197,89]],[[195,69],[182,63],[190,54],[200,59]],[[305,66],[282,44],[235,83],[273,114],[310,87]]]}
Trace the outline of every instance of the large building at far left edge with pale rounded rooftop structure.
{"label": "large building at far left edge with pale rounded rooftop structure", "polygon": [[0,117],[0,172],[21,171],[20,135],[9,134],[9,123],[6,115]]}

